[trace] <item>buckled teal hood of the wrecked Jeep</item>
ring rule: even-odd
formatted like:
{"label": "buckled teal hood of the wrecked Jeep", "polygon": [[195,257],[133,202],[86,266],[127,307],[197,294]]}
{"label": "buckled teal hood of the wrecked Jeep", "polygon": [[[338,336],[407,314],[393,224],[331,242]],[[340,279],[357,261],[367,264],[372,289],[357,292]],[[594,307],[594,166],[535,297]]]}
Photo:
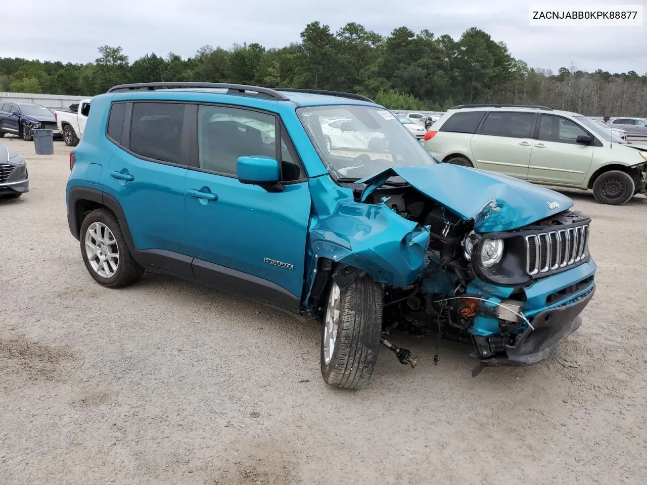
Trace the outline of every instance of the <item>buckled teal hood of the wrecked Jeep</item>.
{"label": "buckled teal hood of the wrecked Jeep", "polygon": [[521,228],[573,207],[571,199],[553,190],[452,164],[392,167],[358,180],[356,184],[366,184],[360,201],[389,177],[403,178],[462,219],[473,220],[474,231],[479,233]]}

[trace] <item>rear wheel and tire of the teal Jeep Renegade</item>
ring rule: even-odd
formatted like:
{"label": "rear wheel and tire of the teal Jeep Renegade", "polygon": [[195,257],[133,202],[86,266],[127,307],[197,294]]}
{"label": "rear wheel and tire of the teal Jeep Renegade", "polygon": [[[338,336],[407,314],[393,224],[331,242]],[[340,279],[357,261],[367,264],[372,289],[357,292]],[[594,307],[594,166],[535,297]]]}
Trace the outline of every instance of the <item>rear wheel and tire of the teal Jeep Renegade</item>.
{"label": "rear wheel and tire of the teal Jeep Renegade", "polygon": [[[85,268],[100,285],[107,288],[123,288],[136,283],[144,274],[144,268],[137,264],[128,249],[119,221],[109,209],[96,209],[85,216],[79,241]],[[111,256],[115,255],[115,249],[116,263],[115,257]]]}

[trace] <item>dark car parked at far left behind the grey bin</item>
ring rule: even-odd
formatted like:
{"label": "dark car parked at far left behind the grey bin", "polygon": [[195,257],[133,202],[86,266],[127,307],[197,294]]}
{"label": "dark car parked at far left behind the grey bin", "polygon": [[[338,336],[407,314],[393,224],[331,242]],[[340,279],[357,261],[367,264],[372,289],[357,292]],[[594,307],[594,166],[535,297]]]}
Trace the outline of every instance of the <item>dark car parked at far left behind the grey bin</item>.
{"label": "dark car parked at far left behind the grey bin", "polygon": [[5,133],[13,133],[30,142],[37,129],[52,130],[54,136],[60,136],[54,113],[45,106],[15,102],[0,104],[0,138]]}

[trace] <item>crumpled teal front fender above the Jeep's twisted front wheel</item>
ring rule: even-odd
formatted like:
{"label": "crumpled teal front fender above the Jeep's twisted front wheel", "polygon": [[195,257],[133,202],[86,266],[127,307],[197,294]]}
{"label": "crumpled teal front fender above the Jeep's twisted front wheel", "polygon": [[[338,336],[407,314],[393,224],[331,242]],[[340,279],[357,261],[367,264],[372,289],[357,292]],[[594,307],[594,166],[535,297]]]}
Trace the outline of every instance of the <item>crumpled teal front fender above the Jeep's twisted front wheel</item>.
{"label": "crumpled teal front fender above the Jeep's twisted front wheel", "polygon": [[401,288],[426,266],[429,228],[400,217],[385,204],[344,199],[330,215],[313,217],[309,246],[315,260],[325,257],[348,264],[378,283]]}

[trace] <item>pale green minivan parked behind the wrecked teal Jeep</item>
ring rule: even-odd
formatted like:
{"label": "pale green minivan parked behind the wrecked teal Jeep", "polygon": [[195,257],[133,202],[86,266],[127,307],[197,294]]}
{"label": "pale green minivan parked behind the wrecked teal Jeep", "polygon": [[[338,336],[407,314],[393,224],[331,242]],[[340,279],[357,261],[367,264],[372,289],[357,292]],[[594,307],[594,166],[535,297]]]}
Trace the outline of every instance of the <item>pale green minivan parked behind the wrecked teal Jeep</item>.
{"label": "pale green minivan parked behind the wrecked teal Jeep", "polygon": [[424,136],[439,160],[534,184],[593,189],[602,204],[647,191],[647,147],[594,120],[543,106],[459,105]]}

